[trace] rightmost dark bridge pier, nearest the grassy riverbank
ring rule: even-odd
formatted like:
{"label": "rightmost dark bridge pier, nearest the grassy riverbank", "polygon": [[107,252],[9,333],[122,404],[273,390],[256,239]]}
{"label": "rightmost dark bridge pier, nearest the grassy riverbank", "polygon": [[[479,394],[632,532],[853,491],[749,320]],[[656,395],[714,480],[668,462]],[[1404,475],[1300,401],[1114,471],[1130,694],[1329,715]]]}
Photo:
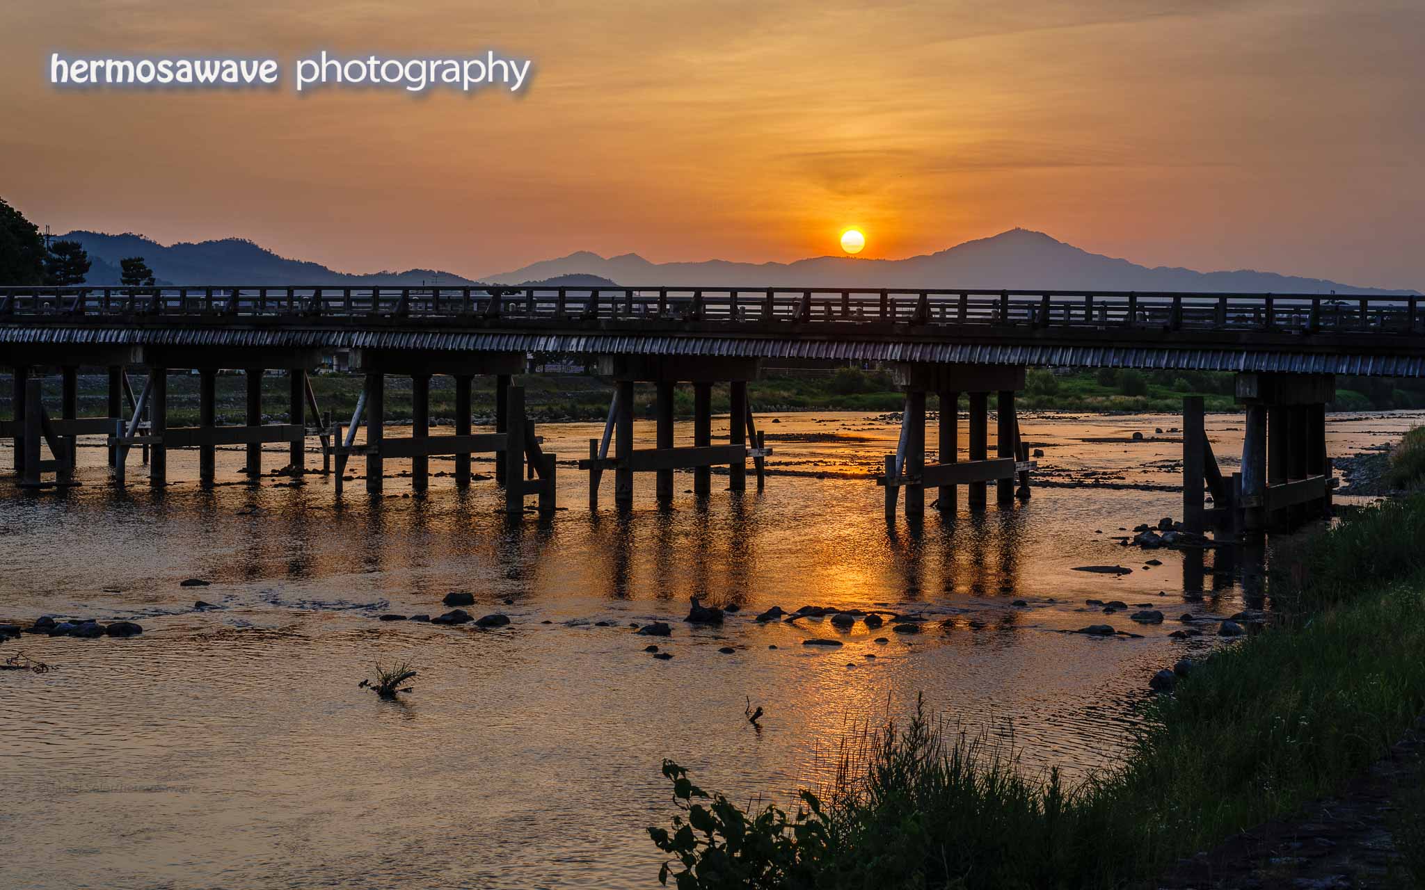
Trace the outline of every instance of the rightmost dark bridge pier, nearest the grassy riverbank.
{"label": "rightmost dark bridge pier, nearest the grassy riverbank", "polygon": [[[1224,478],[1203,429],[1203,400],[1183,403],[1183,524],[1248,537],[1282,531],[1331,513],[1337,480],[1325,447],[1331,375],[1238,373],[1245,407],[1241,473]],[[1204,508],[1204,483],[1213,510]]]}

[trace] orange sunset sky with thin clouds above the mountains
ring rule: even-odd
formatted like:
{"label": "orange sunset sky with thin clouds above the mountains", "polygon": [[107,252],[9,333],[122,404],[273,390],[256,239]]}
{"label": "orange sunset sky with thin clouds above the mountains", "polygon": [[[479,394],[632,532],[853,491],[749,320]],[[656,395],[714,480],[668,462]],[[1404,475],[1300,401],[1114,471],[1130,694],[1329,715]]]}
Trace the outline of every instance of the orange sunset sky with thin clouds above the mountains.
{"label": "orange sunset sky with thin clouds above the mountains", "polygon": [[[291,66],[497,48],[519,98]],[[48,54],[274,56],[272,93],[57,91]],[[1425,4],[46,0],[0,10],[0,197],[369,272],[906,256],[1022,225],[1147,265],[1425,288]]]}

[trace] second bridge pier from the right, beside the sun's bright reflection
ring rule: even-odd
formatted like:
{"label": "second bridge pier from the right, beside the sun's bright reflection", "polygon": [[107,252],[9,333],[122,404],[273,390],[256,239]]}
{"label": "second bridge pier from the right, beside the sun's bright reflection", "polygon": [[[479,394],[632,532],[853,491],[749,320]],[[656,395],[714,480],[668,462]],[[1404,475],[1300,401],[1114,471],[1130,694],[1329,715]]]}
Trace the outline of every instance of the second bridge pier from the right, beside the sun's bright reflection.
{"label": "second bridge pier from the right, beside the sun's bright reflection", "polygon": [[[1023,366],[1005,365],[936,365],[901,363],[891,369],[896,386],[905,390],[905,412],[901,441],[895,454],[886,456],[886,474],[876,484],[886,487],[886,518],[895,518],[896,493],[905,488],[905,514],[919,518],[925,514],[925,490],[939,493],[936,507],[943,514],[955,514],[956,486],[968,486],[970,508],[983,507],[989,483],[995,483],[995,500],[1013,503],[1029,497],[1027,460],[1019,434],[1015,394],[1025,387]],[[939,393],[939,463],[925,463],[925,399]],[[969,460],[960,461],[959,393],[969,393]],[[989,457],[989,394],[996,393],[996,456]],[[1019,488],[1016,491],[1016,480]]]}

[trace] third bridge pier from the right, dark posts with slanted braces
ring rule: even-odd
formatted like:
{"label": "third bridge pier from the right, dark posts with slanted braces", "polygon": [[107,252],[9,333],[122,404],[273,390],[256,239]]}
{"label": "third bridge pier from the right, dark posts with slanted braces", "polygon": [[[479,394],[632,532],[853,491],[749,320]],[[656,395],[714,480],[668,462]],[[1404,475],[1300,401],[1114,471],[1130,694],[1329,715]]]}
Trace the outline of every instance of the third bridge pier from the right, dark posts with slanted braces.
{"label": "third bridge pier from the right, dark posts with slanted braces", "polygon": [[[614,397],[608,423],[601,439],[589,441],[589,459],[579,461],[589,470],[589,506],[598,508],[598,483],[604,470],[614,471],[614,506],[630,510],[634,496],[634,474],[653,471],[654,493],[660,508],[673,504],[674,470],[693,470],[694,497],[707,497],[711,488],[711,467],[728,467],[728,491],[747,488],[747,459],[754,459],[758,488],[764,484],[764,457],[752,410],[747,400],[747,383],[757,379],[757,359],[728,359],[717,356],[628,356],[614,355],[598,359],[598,373],[614,379]],[[730,382],[728,444],[712,444],[712,384]],[[680,382],[693,383],[693,446],[674,446],[674,394]],[[653,383],[654,447],[634,449],[633,413],[634,387]],[[608,456],[610,440],[614,457]],[[748,441],[757,443],[748,447]]]}

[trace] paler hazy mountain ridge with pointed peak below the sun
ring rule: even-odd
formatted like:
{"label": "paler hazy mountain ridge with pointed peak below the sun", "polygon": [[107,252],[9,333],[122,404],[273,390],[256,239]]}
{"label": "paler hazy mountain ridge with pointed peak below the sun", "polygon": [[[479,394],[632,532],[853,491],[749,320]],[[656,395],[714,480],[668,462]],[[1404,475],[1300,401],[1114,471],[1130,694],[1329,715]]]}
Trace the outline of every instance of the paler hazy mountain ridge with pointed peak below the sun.
{"label": "paler hazy mountain ridge with pointed peak below the sun", "polygon": [[1037,290],[1201,290],[1271,293],[1414,293],[1358,288],[1320,278],[1298,278],[1241,269],[1196,272],[1170,266],[1140,266],[1126,259],[1089,253],[1043,232],[1010,229],[966,241],[946,251],[906,259],[817,256],[781,263],[707,262],[654,263],[637,253],[604,258],[580,251],[559,259],[487,275],[497,283],[553,278],[573,272],[601,275],[624,285],[648,286],[808,286],[808,288],[985,288]]}

